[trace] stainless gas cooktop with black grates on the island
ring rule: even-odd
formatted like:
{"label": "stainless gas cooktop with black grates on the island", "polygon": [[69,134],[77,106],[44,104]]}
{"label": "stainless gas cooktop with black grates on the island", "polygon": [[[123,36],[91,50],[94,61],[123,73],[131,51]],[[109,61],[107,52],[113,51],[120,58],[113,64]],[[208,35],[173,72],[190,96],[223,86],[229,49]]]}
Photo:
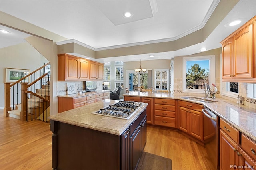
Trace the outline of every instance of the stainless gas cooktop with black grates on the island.
{"label": "stainless gas cooktop with black grates on the island", "polygon": [[120,101],[114,105],[109,105],[106,108],[100,109],[93,114],[128,119],[128,117],[141,105],[141,102]]}

